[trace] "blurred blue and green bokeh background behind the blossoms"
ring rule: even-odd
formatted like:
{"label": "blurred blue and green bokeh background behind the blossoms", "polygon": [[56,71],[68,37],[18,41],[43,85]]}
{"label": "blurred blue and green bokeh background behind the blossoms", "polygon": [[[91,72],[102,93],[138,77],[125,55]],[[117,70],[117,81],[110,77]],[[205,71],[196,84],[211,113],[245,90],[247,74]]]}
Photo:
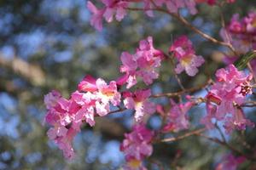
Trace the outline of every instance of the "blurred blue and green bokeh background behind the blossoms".
{"label": "blurred blue and green bokeh background behind the blossoms", "polygon": [[[122,22],[104,23],[99,32],[90,26],[85,4],[85,0],[0,1],[0,169],[119,169],[124,163],[119,144],[131,129],[131,113],[97,117],[96,127],[84,126],[73,143],[77,156],[67,161],[47,138],[48,127],[43,126],[44,94],[57,89],[68,98],[88,74],[108,81],[119,77],[121,52],[134,53],[138,42],[148,36],[154,37],[155,48],[167,52],[175,37],[188,35],[196,53],[207,60],[195,78],[181,75],[185,88],[206,82],[224,66],[218,51],[225,48],[205,41],[166,14],[155,13],[154,18],[148,18],[142,12],[130,12]],[[223,8],[224,20],[230,20],[234,13],[246,15],[255,6],[254,0],[237,0]],[[204,4],[198,8],[201,12],[195,16],[186,10],[181,12],[193,25],[220,38],[219,8]],[[163,63],[160,78],[151,88],[154,94],[180,90],[170,63]],[[168,104],[167,99],[155,102]],[[189,112],[192,129],[201,126],[199,121],[205,114],[202,108],[203,105]],[[256,122],[255,111],[250,109],[247,113]],[[158,129],[160,117],[151,117],[148,127]],[[255,132],[248,129],[226,138],[236,148],[251,153],[256,150]],[[219,137],[215,131],[209,135]],[[243,139],[252,148],[244,147]],[[160,169],[159,163],[164,169],[213,169],[226,153],[229,150],[223,146],[189,137],[171,144],[155,144],[148,169]],[[250,165],[252,162],[247,161],[241,169]]]}

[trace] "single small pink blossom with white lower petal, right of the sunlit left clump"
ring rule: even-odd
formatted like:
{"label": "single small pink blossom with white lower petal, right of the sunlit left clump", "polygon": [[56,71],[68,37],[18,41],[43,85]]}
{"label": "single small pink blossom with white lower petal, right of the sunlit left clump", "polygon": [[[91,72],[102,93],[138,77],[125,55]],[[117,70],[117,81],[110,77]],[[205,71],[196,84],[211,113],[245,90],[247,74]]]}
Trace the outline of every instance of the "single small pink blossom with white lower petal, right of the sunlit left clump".
{"label": "single small pink blossom with white lower petal, right of the sunlit left clump", "polygon": [[148,99],[150,95],[150,89],[137,90],[135,93],[125,92],[123,94],[125,108],[135,110],[135,120],[137,122],[140,122],[144,115],[153,114],[155,111],[154,103]]}

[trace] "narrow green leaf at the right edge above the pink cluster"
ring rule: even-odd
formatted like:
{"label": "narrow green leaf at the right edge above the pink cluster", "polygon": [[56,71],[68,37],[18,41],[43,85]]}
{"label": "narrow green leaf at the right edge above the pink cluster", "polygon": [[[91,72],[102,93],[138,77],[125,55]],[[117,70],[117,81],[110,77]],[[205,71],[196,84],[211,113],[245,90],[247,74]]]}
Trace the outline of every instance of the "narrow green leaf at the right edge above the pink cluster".
{"label": "narrow green leaf at the right edge above the pink cluster", "polygon": [[242,55],[239,59],[236,60],[235,66],[238,70],[243,70],[247,63],[250,62],[252,59],[256,59],[256,50],[250,51],[247,54]]}

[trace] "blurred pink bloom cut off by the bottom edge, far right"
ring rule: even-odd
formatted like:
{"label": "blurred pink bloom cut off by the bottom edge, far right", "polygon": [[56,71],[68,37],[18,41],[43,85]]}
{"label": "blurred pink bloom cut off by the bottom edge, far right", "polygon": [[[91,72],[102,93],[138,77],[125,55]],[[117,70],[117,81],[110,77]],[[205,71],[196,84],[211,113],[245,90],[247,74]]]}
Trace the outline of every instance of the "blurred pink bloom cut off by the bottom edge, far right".
{"label": "blurred pink bloom cut off by the bottom edge, far right", "polygon": [[232,154],[229,154],[222,158],[222,161],[218,163],[215,170],[236,170],[244,161],[246,161],[244,156],[235,157]]}

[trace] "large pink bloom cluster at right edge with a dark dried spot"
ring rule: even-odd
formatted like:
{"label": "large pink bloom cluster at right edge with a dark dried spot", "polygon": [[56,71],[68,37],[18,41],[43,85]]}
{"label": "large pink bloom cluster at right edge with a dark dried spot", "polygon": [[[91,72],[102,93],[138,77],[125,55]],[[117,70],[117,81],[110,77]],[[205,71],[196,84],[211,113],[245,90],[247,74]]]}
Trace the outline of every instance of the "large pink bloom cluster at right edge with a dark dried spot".
{"label": "large pink bloom cluster at right edge with a dark dried spot", "polygon": [[232,129],[244,130],[246,126],[253,127],[253,122],[245,118],[240,107],[246,95],[252,94],[252,75],[237,71],[234,65],[219,69],[215,75],[217,80],[207,94],[207,116],[201,122],[212,127],[212,118],[224,121],[227,133]]}

